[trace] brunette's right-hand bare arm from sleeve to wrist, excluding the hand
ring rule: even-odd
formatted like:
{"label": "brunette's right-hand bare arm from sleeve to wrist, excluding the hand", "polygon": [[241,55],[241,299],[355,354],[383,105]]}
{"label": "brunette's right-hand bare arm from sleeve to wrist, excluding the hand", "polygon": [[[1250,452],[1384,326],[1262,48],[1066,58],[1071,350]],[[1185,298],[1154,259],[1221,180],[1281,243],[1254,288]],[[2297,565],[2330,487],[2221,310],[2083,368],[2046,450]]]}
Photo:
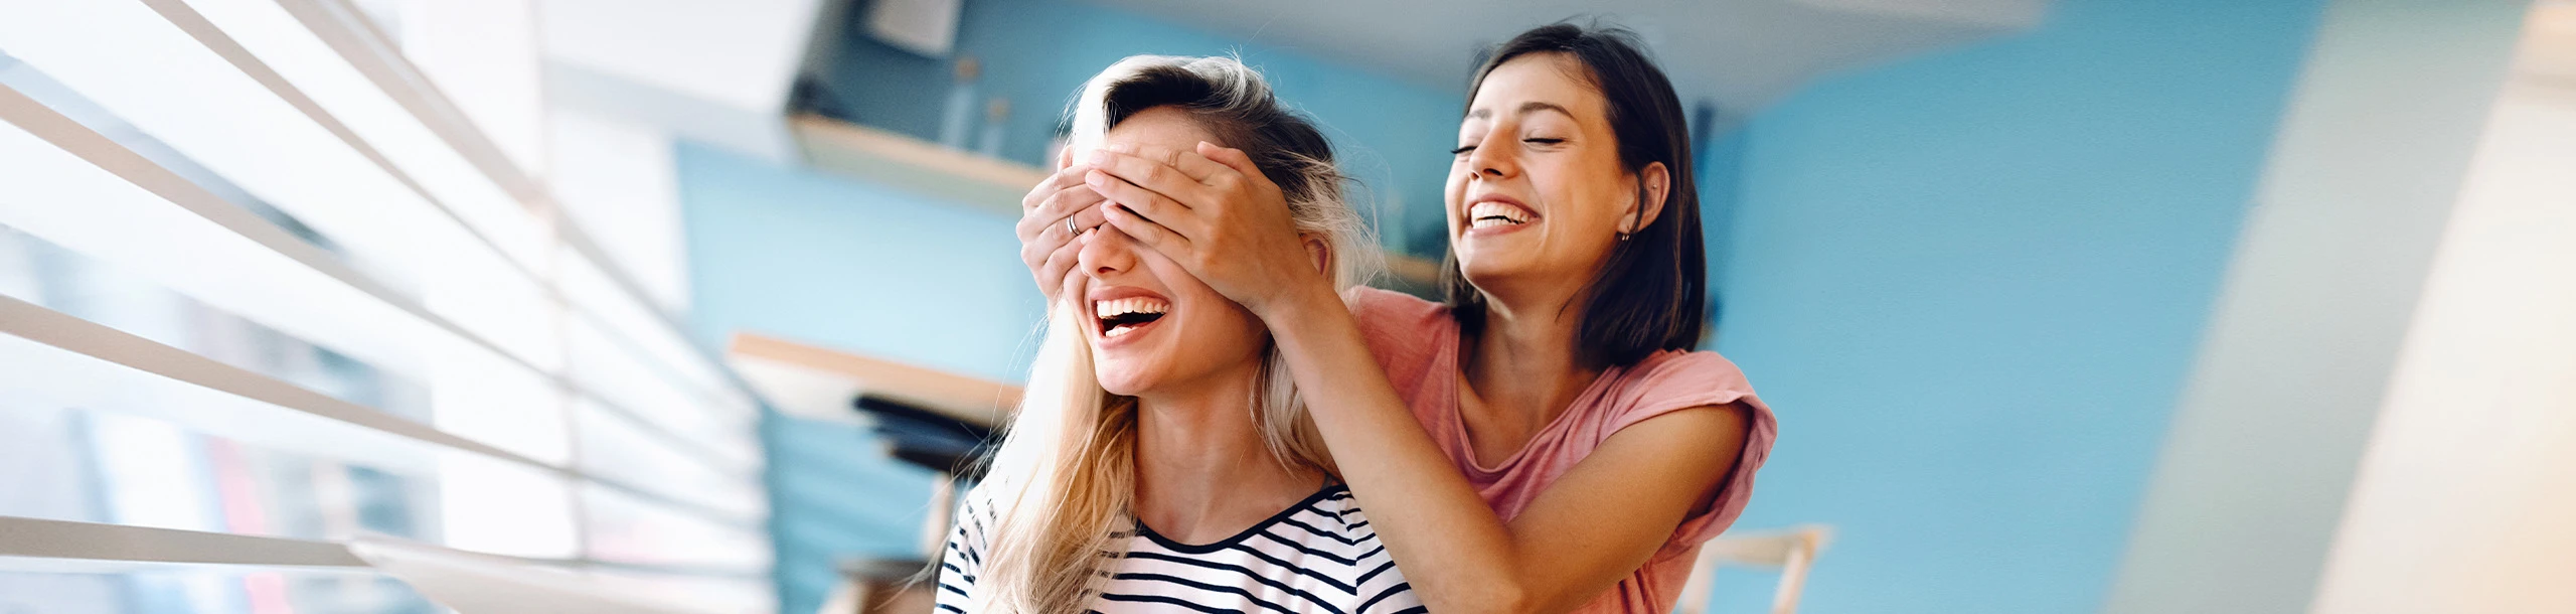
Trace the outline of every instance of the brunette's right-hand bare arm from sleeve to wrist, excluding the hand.
{"label": "brunette's right-hand bare arm from sleeve to wrist, excluding the hand", "polygon": [[1716,493],[1749,433],[1747,413],[1731,405],[1649,418],[1499,524],[1396,400],[1340,302],[1270,322],[1342,480],[1432,611],[1569,611],[1592,601],[1646,565]]}

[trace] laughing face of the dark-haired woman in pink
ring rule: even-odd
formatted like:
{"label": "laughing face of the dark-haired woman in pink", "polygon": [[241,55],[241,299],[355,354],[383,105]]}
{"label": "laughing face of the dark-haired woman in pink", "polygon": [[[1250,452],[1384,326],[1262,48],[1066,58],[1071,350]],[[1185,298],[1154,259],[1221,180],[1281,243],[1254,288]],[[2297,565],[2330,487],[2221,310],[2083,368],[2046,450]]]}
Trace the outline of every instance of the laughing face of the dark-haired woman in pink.
{"label": "laughing face of the dark-haired woman in pink", "polygon": [[1584,75],[1566,54],[1515,57],[1486,72],[1458,124],[1450,248],[1489,294],[1589,284],[1618,235],[1641,227],[1636,173]]}

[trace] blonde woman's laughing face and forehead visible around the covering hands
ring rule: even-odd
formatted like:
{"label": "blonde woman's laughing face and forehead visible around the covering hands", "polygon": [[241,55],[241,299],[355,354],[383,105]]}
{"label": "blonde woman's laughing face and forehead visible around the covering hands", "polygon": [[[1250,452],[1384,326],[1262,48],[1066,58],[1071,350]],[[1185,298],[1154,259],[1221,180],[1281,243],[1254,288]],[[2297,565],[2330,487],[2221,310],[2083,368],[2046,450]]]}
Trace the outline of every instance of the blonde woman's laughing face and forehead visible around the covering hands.
{"label": "blonde woman's laughing face and forehead visible around the covering hands", "polygon": [[[1118,121],[1105,142],[1188,152],[1216,142],[1190,114],[1170,106]],[[1110,395],[1188,387],[1260,361],[1267,328],[1242,304],[1216,294],[1172,258],[1115,227],[1082,235],[1082,307],[1092,374]]]}

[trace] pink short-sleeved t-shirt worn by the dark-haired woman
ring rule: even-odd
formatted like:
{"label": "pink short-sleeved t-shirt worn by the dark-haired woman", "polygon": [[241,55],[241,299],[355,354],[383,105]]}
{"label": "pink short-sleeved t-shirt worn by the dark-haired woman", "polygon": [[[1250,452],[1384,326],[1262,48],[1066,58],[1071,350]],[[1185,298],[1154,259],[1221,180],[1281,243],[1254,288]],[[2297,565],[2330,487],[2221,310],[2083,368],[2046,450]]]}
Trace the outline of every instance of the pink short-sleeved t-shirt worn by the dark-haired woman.
{"label": "pink short-sleeved t-shirt worn by the dark-haired woman", "polygon": [[1754,397],[1736,364],[1716,351],[1656,351],[1643,361],[1605,369],[1564,415],[1530,436],[1530,444],[1497,467],[1481,467],[1468,446],[1466,421],[1458,418],[1458,320],[1450,310],[1383,289],[1352,289],[1350,310],[1368,348],[1386,366],[1386,379],[1414,410],[1414,421],[1422,421],[1422,431],[1430,431],[1502,521],[1520,516],[1558,475],[1631,423],[1703,405],[1752,408],[1752,433],[1726,485],[1700,500],[1643,568],[1574,611],[1672,611],[1682,583],[1690,580],[1700,542],[1718,537],[1744,513],[1744,500],[1754,493],[1754,470],[1762,470],[1777,433],[1770,408]]}

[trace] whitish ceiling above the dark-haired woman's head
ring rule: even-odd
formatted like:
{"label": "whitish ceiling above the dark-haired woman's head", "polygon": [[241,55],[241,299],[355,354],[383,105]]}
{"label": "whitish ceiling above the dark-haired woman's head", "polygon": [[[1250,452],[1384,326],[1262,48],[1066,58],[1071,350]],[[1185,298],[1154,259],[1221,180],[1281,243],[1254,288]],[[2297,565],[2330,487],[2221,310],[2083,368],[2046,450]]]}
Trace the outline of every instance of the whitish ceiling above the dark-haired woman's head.
{"label": "whitish ceiling above the dark-haired woman's head", "polygon": [[1749,114],[1816,75],[2038,26],[2048,0],[1092,0],[1466,90],[1476,49],[1600,15],[1654,46],[1687,101]]}

